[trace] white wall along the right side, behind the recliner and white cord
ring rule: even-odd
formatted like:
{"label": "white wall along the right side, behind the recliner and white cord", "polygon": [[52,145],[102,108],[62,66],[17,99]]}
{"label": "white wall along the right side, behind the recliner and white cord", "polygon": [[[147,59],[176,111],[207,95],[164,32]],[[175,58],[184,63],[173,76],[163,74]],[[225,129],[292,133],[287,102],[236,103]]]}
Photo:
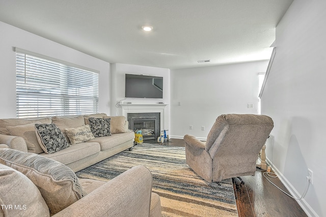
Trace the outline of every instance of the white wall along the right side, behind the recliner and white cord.
{"label": "white wall along the right side, behind the recliner and white cord", "polygon": [[262,95],[274,120],[266,154],[310,216],[326,216],[326,1],[296,0],[276,28],[276,56]]}

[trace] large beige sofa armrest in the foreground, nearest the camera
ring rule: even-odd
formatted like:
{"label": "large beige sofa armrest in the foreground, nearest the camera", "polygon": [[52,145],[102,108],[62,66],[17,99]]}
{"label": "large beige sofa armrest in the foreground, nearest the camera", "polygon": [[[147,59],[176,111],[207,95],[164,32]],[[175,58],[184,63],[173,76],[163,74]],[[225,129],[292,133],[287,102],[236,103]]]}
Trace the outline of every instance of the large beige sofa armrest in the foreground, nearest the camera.
{"label": "large beige sofa armrest in the foreground, nearest the camera", "polygon": [[150,171],[136,166],[53,216],[149,216],[151,191]]}

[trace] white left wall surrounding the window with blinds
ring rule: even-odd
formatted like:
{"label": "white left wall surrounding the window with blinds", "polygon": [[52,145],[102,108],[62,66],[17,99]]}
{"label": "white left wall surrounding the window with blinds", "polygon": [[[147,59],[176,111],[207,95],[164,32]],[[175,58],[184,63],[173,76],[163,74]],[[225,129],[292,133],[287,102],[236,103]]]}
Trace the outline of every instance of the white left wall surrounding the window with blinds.
{"label": "white left wall surrounding the window with blinds", "polygon": [[16,118],[16,53],[13,47],[99,71],[99,112],[110,113],[110,64],[0,22],[0,118]]}

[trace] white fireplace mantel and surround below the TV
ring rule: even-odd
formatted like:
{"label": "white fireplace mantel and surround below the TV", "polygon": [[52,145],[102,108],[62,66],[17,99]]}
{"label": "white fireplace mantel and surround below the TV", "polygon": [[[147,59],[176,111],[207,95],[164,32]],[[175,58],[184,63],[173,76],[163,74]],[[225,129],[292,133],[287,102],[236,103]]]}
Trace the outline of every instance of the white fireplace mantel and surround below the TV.
{"label": "white fireplace mantel and surround below the TV", "polygon": [[160,113],[160,129],[166,129],[165,126],[165,108],[168,104],[138,104],[138,103],[120,103],[122,115],[126,117],[128,113]]}

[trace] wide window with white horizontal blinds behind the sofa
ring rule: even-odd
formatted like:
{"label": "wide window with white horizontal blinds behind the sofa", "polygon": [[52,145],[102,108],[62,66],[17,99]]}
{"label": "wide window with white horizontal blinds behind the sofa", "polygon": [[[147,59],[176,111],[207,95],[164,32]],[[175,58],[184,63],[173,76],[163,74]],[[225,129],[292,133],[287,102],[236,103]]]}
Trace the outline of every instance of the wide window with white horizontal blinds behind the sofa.
{"label": "wide window with white horizontal blinds behind the sofa", "polygon": [[98,113],[98,73],[16,49],[17,118]]}

